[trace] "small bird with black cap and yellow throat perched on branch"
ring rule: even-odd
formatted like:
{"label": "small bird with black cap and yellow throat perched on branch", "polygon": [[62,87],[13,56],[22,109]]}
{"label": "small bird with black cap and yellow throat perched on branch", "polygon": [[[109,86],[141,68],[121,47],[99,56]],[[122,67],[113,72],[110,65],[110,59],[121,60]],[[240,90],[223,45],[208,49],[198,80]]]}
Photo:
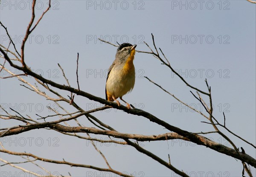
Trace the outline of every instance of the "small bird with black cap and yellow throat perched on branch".
{"label": "small bird with black cap and yellow throat perched on branch", "polygon": [[131,109],[128,102],[122,99],[126,93],[131,92],[135,84],[135,67],[133,64],[135,48],[137,45],[129,43],[121,44],[116,51],[116,58],[108,69],[108,76],[105,87],[106,100],[116,101],[118,106],[120,98]]}

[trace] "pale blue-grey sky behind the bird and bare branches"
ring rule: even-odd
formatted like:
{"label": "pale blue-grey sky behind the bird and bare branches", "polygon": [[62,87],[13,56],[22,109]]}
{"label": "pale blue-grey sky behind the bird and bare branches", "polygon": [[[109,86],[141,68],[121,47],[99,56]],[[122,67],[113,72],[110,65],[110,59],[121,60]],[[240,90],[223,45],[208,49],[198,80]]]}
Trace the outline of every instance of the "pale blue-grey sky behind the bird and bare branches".
{"label": "pale blue-grey sky behind the bird and bare branches", "polygon": [[[46,0],[39,1],[36,17],[39,17],[47,8],[47,2]],[[116,1],[115,7],[113,1],[52,1],[52,9],[47,12],[32,33],[31,44],[26,44],[26,64],[35,71],[41,72],[48,79],[65,83],[57,65],[59,63],[65,70],[71,86],[77,87],[76,53],[79,52],[80,89],[105,98],[105,72],[113,62],[116,47],[104,44],[96,38],[111,40],[112,43],[115,43],[115,39],[119,43],[126,42],[128,39],[127,42],[137,44],[138,50],[149,51],[143,41],[153,47],[151,41],[151,33],[153,33],[157,47],[163,50],[172,67],[183,73],[183,77],[190,84],[201,90],[206,90],[204,80],[207,78],[212,87],[215,117],[223,122],[222,112],[224,111],[227,127],[255,145],[255,4],[246,0],[217,0],[202,1],[200,6],[200,2],[186,0]],[[96,3],[99,6],[95,6]],[[180,6],[181,3],[187,4],[187,9],[186,6]],[[43,5],[42,10],[40,10],[41,5]],[[29,3],[27,1],[1,0],[0,7],[0,20],[8,27],[12,38],[16,39],[17,48],[20,49],[21,35],[25,34],[31,15]],[[8,45],[3,28],[0,30],[1,44]],[[187,41],[180,40],[186,36]],[[3,64],[3,59],[0,61]],[[211,125],[201,123],[201,121],[206,121],[204,117],[181,107],[175,99],[143,78],[148,76],[187,104],[204,111],[189,92],[191,89],[186,87],[167,67],[161,65],[153,56],[142,53],[136,54],[134,65],[137,70],[136,83],[134,90],[123,97],[126,101],[187,131],[213,131]],[[7,76],[6,73],[1,73],[1,75]],[[32,78],[26,79],[31,83],[35,82]],[[26,90],[19,84],[15,78],[1,79],[0,102],[2,106],[24,110],[23,115],[28,114],[32,117],[38,113],[37,110],[41,111],[41,116],[53,114],[47,109],[47,105],[55,107],[52,102]],[[63,91],[59,93],[63,93],[66,97],[70,95]],[[79,96],[75,97],[75,101],[84,109],[101,106],[99,103]],[[208,103],[208,100],[206,101]],[[29,105],[32,105],[31,109]],[[67,110],[74,111],[69,105],[62,105],[67,107]],[[61,111],[59,107],[57,109]],[[119,110],[103,111],[93,115],[123,133],[151,135],[167,132],[163,127],[149,122],[148,119],[131,116]],[[11,126],[10,122],[12,125],[17,125],[15,121],[0,121],[1,128]],[[94,126],[85,118],[80,118],[79,121],[85,126]],[[76,124],[71,123],[71,125],[75,126]],[[229,133],[227,135],[237,147],[243,147],[252,157],[256,156],[253,147]],[[44,143],[39,146],[32,141],[30,146],[28,137],[43,139]],[[59,146],[52,144],[56,141],[55,137]],[[207,137],[221,144],[229,145],[220,136],[210,134]],[[17,138],[17,145],[15,146],[12,142],[12,146],[9,147],[9,142],[15,141],[15,138]],[[23,138],[27,142],[24,146],[21,142]],[[49,140],[51,140],[50,145]],[[3,142],[3,139],[1,141]],[[90,142],[63,136],[55,131],[34,130],[17,136],[5,137],[4,141],[5,147],[13,151],[26,151],[50,159],[61,160],[64,158],[70,162],[106,166]],[[203,176],[207,176],[207,174],[209,176],[211,174],[214,176],[241,176],[241,162],[216,153],[209,148],[176,140],[169,140],[168,143],[166,141],[143,142],[142,145],[166,161],[170,154],[172,165],[192,176],[193,174],[197,174],[197,176],[200,174]],[[231,145],[229,146],[231,147]],[[138,153],[134,148],[113,144],[101,145],[100,143],[97,143],[97,147],[116,170],[127,171],[136,176],[143,174],[144,177],[175,176],[166,167],[144,154]],[[1,157],[11,162],[20,160],[6,154],[1,154]],[[42,171],[29,164],[21,166],[34,171]],[[89,176],[90,171],[94,174],[91,169],[71,168],[67,165],[44,163],[43,166],[49,171],[61,172],[62,175],[68,175],[68,171],[78,177],[85,174]],[[19,170],[8,165],[3,166],[1,170],[11,171],[12,174],[19,173]],[[251,170],[256,175],[255,168],[251,168]],[[95,175],[99,174],[108,176],[108,174],[100,172]]]}

